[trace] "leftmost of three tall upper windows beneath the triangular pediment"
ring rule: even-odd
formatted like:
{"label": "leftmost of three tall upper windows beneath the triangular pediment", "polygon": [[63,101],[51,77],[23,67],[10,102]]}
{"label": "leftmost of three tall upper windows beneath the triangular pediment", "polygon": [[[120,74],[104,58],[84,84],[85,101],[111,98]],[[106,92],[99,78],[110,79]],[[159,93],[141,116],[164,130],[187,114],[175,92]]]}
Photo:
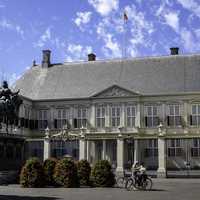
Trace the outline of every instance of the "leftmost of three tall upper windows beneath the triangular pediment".
{"label": "leftmost of three tall upper windows beneath the triangular pediment", "polygon": [[106,109],[104,106],[96,107],[96,127],[104,128],[105,127],[105,115]]}

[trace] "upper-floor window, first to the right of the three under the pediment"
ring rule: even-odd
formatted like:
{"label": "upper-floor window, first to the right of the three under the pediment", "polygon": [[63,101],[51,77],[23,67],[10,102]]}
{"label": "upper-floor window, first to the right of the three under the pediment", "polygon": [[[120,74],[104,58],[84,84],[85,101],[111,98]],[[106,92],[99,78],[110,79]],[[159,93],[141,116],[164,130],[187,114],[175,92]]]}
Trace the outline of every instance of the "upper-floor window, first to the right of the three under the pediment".
{"label": "upper-floor window, first to the right of the three under the pediment", "polygon": [[146,127],[157,127],[159,124],[158,106],[145,106],[145,125]]}

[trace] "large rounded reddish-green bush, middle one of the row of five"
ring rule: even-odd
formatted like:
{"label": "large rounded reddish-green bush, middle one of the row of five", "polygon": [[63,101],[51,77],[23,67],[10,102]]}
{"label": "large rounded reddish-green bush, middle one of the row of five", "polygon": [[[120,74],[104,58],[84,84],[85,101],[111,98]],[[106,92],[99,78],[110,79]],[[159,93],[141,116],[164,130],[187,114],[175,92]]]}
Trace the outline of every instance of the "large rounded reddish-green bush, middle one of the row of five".
{"label": "large rounded reddish-green bush, middle one of the row of five", "polygon": [[54,180],[64,187],[79,187],[77,166],[71,158],[63,158],[56,163]]}

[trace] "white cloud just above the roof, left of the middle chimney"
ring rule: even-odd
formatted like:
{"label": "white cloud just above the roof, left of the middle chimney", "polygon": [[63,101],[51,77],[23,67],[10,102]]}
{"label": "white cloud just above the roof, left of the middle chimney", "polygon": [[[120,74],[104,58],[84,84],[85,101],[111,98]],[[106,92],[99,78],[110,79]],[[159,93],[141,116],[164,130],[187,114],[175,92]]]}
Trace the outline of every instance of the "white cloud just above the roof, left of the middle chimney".
{"label": "white cloud just above the roof, left of the middle chimney", "polygon": [[82,46],[80,44],[69,44],[67,46],[67,55],[65,61],[86,60],[87,55],[92,52],[91,46]]}

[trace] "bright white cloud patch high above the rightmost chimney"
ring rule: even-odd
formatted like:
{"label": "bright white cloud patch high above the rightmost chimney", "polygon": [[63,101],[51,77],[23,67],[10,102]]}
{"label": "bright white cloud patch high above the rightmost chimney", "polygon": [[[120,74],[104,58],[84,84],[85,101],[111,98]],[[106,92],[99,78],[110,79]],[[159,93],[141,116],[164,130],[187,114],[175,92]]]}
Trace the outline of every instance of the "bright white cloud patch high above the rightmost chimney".
{"label": "bright white cloud patch high above the rightmost chimney", "polygon": [[179,32],[179,16],[175,12],[167,12],[164,14],[166,24],[171,26],[175,32]]}

